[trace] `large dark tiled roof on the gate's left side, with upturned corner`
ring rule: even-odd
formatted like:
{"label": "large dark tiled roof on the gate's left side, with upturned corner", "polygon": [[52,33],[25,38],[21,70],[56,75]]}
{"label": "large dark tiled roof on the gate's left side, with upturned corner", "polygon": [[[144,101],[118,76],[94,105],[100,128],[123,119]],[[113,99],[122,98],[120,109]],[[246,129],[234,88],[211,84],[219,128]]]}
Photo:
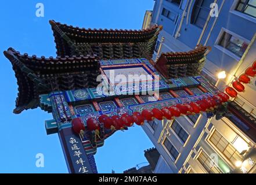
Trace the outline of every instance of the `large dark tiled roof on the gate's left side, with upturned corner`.
{"label": "large dark tiled roof on the gate's left side, with upturned corner", "polygon": [[96,56],[46,58],[20,54],[12,48],[3,53],[12,63],[19,86],[15,113],[37,108],[40,94],[98,84],[100,63]]}

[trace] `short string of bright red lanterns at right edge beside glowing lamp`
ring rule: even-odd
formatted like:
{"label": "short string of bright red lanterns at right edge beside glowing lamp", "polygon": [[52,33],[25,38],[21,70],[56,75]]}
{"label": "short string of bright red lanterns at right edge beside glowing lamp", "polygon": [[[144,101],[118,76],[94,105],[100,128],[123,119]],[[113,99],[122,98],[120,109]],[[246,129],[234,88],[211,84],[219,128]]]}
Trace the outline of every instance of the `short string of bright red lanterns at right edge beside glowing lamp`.
{"label": "short string of bright red lanterns at right edge beside glowing lamp", "polygon": [[232,83],[233,87],[227,87],[226,88],[226,93],[232,97],[236,98],[237,97],[237,92],[244,92],[244,84],[248,84],[251,82],[250,77],[255,77],[256,76],[256,61],[254,61],[253,65],[248,67],[246,71],[239,76],[238,80],[235,80],[235,82]]}

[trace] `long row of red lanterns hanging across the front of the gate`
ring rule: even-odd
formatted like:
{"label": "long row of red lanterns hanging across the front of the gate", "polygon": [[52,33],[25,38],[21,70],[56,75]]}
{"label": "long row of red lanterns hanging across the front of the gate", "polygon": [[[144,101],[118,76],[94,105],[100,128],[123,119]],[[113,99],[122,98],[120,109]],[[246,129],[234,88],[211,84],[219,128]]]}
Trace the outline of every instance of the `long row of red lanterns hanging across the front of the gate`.
{"label": "long row of red lanterns hanging across the front of the gate", "polygon": [[[154,108],[152,110],[144,109],[141,113],[134,112],[132,115],[128,113],[122,114],[120,117],[117,115],[107,116],[102,114],[97,119],[89,118],[86,121],[89,131],[99,132],[100,123],[104,125],[106,129],[120,130],[124,127],[131,127],[134,123],[137,125],[143,125],[145,121],[152,121],[154,119],[174,119],[174,117],[187,116],[190,114],[198,114],[201,112],[209,112],[218,108],[224,102],[229,101],[229,96],[224,92],[218,92],[218,94],[207,97],[196,102],[189,102],[185,104],[176,104],[170,107],[164,107],[161,110]],[[77,134],[81,134],[85,130],[83,121],[80,118],[75,118],[72,121],[72,126]]]}

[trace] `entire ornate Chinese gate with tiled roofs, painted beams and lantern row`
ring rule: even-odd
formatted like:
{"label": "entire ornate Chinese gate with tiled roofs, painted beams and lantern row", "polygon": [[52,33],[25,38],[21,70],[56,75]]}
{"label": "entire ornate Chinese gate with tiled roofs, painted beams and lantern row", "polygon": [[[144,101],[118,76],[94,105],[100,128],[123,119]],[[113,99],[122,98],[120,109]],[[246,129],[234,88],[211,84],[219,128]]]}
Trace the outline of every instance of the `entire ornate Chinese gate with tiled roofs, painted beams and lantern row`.
{"label": "entire ornate Chinese gate with tiled roofs, painted beams and lantern row", "polygon": [[[4,54],[19,86],[13,112],[40,107],[52,113],[53,119],[45,121],[46,132],[59,135],[70,173],[98,173],[93,157],[97,147],[119,129],[128,129],[127,117],[142,125],[150,117],[167,120],[200,112],[214,116],[228,101],[200,76],[209,47],[163,53],[156,63],[152,61],[161,26],[113,30],[78,28],[53,20],[50,24],[57,57],[28,56],[12,48]],[[126,79],[129,75],[152,78],[116,83],[111,72]],[[99,75],[113,89],[111,94],[99,92]],[[99,119],[102,115],[110,118],[108,123]]]}

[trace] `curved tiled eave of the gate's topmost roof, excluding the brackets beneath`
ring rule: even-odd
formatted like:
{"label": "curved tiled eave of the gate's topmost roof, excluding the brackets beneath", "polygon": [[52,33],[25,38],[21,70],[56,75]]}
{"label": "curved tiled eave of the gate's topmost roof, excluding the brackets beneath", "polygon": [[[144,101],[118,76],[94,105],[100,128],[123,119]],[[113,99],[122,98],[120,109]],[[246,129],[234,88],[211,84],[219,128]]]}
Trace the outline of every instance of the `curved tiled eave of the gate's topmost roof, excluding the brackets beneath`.
{"label": "curved tiled eave of the gate's topmost roof, excluding the brackets beneath", "polygon": [[54,20],[50,20],[49,23],[55,38],[57,56],[65,56],[70,53],[70,48],[64,38],[75,43],[140,43],[148,42],[162,29],[158,25],[143,30],[85,29],[56,23]]}

